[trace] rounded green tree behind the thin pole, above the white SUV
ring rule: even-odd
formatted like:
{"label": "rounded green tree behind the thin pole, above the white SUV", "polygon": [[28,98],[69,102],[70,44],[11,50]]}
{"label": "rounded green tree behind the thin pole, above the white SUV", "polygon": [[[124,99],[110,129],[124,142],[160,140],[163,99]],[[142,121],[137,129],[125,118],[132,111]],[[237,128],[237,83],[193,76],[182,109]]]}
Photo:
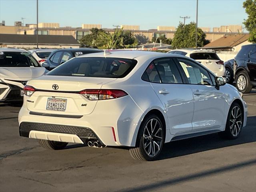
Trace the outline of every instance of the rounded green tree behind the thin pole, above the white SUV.
{"label": "rounded green tree behind the thin pole, above the white SUV", "polygon": [[[197,47],[204,46],[207,40],[202,29],[197,29]],[[173,48],[193,48],[196,47],[196,23],[184,25],[180,23],[172,39]]]}

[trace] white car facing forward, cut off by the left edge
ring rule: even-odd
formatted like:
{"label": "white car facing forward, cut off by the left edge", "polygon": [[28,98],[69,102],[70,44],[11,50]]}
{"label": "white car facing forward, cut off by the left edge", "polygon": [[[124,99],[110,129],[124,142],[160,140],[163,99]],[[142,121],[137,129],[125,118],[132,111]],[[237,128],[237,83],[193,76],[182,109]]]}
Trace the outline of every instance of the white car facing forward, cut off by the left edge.
{"label": "white car facing forward, cut off by the left edge", "polygon": [[22,101],[27,81],[46,72],[26,50],[0,48],[0,102]]}

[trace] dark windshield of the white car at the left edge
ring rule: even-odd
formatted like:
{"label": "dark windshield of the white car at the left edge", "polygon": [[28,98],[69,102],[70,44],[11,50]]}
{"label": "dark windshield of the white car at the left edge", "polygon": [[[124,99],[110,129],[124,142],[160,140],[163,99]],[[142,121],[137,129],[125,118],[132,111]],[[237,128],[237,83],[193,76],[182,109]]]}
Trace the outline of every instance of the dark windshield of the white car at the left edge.
{"label": "dark windshield of the white car at the left edge", "polygon": [[0,52],[0,67],[40,67],[28,52]]}

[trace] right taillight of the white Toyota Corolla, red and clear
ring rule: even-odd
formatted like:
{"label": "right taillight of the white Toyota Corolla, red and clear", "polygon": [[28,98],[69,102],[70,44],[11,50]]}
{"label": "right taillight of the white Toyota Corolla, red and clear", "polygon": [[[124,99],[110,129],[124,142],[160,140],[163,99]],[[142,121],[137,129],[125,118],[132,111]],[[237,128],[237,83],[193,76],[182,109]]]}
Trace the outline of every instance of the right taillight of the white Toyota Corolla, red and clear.
{"label": "right taillight of the white Toyota Corolla, red and clear", "polygon": [[114,99],[128,95],[123,90],[118,89],[86,89],[80,91],[80,94],[89,100]]}

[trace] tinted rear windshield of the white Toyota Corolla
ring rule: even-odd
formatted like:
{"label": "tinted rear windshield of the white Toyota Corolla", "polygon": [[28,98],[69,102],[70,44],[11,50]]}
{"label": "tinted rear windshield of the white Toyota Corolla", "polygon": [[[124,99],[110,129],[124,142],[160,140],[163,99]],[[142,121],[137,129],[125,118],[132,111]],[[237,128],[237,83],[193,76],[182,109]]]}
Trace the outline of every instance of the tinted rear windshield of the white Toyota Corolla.
{"label": "tinted rear windshield of the white Toyota Corolla", "polygon": [[136,60],[124,58],[78,57],[68,60],[47,75],[122,78],[136,63]]}

